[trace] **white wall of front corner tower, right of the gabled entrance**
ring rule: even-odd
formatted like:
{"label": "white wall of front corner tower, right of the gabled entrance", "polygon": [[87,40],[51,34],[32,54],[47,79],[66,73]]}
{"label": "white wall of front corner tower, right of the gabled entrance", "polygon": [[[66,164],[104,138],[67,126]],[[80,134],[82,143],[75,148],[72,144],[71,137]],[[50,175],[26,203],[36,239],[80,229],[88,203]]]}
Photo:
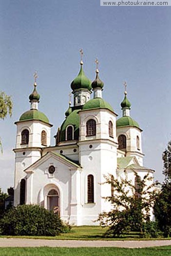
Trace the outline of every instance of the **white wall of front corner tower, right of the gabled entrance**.
{"label": "white wall of front corner tower, right of the gabled entrance", "polygon": [[[98,225],[97,222],[93,223],[93,220],[97,219],[102,211],[111,209],[109,202],[102,198],[111,195],[111,185],[101,183],[105,182],[104,175],[116,176],[116,115],[107,109],[80,111],[79,114],[79,162],[83,167],[81,173],[82,225]],[[96,121],[96,135],[94,136],[86,136],[86,122],[89,119]],[[114,138],[109,136],[109,121],[113,123]],[[94,175],[94,203],[87,203],[87,176],[89,174]]]}

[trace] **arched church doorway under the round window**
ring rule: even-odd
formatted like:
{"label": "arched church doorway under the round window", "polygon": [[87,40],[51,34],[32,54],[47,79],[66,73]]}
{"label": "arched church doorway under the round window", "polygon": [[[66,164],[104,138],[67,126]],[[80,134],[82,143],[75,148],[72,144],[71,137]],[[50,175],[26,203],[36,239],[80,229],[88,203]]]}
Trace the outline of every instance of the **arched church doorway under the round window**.
{"label": "arched church doorway under the round window", "polygon": [[47,209],[59,215],[59,192],[51,189],[47,194]]}

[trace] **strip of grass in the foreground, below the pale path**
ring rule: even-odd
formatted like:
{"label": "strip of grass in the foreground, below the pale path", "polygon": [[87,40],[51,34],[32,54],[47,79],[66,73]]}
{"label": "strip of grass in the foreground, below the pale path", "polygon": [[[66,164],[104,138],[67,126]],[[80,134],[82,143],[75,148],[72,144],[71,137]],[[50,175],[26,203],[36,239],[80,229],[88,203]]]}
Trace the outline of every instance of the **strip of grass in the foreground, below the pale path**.
{"label": "strip of grass in the foreground, below the pale path", "polygon": [[171,246],[154,248],[0,248],[0,256],[171,256]]}

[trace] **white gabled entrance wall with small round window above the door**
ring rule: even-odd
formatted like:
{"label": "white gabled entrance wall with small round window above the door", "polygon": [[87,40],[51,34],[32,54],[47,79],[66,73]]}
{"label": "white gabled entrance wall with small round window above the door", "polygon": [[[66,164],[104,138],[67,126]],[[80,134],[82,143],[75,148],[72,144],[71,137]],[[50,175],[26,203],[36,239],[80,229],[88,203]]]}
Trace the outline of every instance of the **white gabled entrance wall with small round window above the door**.
{"label": "white gabled entrance wall with small round window above the door", "polygon": [[[80,223],[80,172],[55,157],[45,157],[44,161],[35,164],[33,170],[27,172],[26,204],[38,204],[47,209],[47,194],[51,189],[59,191],[60,217],[72,225]],[[48,168],[53,165],[54,174]]]}

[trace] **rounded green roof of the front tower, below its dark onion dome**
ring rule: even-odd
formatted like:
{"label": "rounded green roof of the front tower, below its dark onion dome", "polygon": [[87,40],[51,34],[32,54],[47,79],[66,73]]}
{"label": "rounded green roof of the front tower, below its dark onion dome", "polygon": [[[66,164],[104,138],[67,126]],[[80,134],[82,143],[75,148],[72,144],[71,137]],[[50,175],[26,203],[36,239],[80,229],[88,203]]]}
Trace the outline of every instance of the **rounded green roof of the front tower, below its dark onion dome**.
{"label": "rounded green roof of the front tower, below its dark onion dome", "polygon": [[92,108],[106,108],[109,109],[110,111],[114,112],[113,107],[106,101],[104,101],[102,98],[94,98],[90,101],[88,101],[86,104],[83,106],[83,110],[85,109],[92,109]]}

